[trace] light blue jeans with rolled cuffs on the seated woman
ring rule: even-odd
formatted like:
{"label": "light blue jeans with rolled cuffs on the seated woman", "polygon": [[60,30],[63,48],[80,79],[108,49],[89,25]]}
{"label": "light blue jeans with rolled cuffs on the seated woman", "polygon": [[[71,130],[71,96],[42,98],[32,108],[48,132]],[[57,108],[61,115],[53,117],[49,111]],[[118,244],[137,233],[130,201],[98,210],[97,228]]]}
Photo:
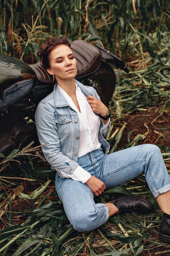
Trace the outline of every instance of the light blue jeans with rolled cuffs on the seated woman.
{"label": "light blue jeans with rolled cuffs on the seated woman", "polygon": [[[78,159],[78,163],[91,175],[102,180],[106,188],[126,183],[141,173],[153,196],[157,198],[170,190],[170,177],[160,149],[152,144],[143,144],[104,155],[95,150]],[[94,202],[94,194],[86,184],[71,178],[55,178],[57,195],[77,231],[90,231],[104,224],[108,218],[108,207]]]}

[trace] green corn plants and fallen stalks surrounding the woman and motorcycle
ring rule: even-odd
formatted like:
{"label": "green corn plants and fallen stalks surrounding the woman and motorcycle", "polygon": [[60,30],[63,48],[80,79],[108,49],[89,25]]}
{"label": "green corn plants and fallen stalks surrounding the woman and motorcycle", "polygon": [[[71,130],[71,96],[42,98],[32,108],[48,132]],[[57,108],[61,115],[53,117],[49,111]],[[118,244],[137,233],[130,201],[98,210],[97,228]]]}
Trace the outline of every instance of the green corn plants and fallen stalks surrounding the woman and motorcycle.
{"label": "green corn plants and fallen stalks surrounding the woman and motorcycle", "polygon": [[[49,36],[64,35],[70,42],[98,43],[123,59],[129,74],[113,66],[117,84],[109,103],[110,152],[157,144],[170,173],[168,0],[1,0],[0,7],[0,53],[36,63],[40,44]],[[146,117],[154,124],[153,134]],[[134,120],[146,131],[137,130]],[[132,121],[133,128],[128,126]],[[170,254],[170,245],[158,239],[163,213],[143,175],[95,200],[104,202],[114,192],[142,195],[155,210],[146,216],[114,216],[91,232],[77,232],[70,225],[54,179],[40,147],[29,144],[7,157],[0,155],[0,256]]]}

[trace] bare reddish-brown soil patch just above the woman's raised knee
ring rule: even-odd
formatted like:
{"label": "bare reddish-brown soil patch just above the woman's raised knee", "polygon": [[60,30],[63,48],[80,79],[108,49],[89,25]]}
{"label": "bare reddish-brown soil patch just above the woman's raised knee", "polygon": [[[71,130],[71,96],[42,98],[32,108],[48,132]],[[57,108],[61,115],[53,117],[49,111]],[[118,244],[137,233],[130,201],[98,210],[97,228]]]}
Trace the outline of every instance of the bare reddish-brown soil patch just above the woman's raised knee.
{"label": "bare reddish-brown soil patch just above the woman's raised knee", "polygon": [[128,143],[128,139],[132,141],[139,134],[145,136],[138,144],[155,144],[163,152],[170,148],[170,109],[162,110],[155,106],[128,115],[123,121],[126,122],[126,128],[119,148],[123,148]]}

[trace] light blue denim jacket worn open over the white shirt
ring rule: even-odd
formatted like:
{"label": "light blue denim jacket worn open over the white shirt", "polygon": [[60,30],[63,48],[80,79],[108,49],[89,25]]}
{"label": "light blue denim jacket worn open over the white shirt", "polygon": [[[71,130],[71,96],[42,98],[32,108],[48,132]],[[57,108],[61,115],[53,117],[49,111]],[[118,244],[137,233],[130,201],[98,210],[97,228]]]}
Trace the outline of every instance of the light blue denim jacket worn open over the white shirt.
{"label": "light blue denim jacket worn open over the white shirt", "polygon": [[[77,80],[75,82],[86,97],[92,95],[99,99],[94,88],[87,87]],[[42,146],[44,157],[51,168],[71,175],[78,166],[79,122],[77,112],[68,106],[57,85],[53,92],[38,104],[35,122],[40,144],[45,144]],[[102,135],[103,128],[104,123],[101,120],[99,142],[104,153],[107,154],[110,145]]]}

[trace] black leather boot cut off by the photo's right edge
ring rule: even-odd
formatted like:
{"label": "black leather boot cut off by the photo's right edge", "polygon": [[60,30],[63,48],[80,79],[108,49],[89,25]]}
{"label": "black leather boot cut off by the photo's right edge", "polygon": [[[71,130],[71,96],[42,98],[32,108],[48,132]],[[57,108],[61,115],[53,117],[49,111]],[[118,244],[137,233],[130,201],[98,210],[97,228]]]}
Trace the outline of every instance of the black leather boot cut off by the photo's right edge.
{"label": "black leather boot cut off by the photo's right edge", "polygon": [[170,215],[164,213],[160,226],[159,239],[163,242],[170,243]]}

